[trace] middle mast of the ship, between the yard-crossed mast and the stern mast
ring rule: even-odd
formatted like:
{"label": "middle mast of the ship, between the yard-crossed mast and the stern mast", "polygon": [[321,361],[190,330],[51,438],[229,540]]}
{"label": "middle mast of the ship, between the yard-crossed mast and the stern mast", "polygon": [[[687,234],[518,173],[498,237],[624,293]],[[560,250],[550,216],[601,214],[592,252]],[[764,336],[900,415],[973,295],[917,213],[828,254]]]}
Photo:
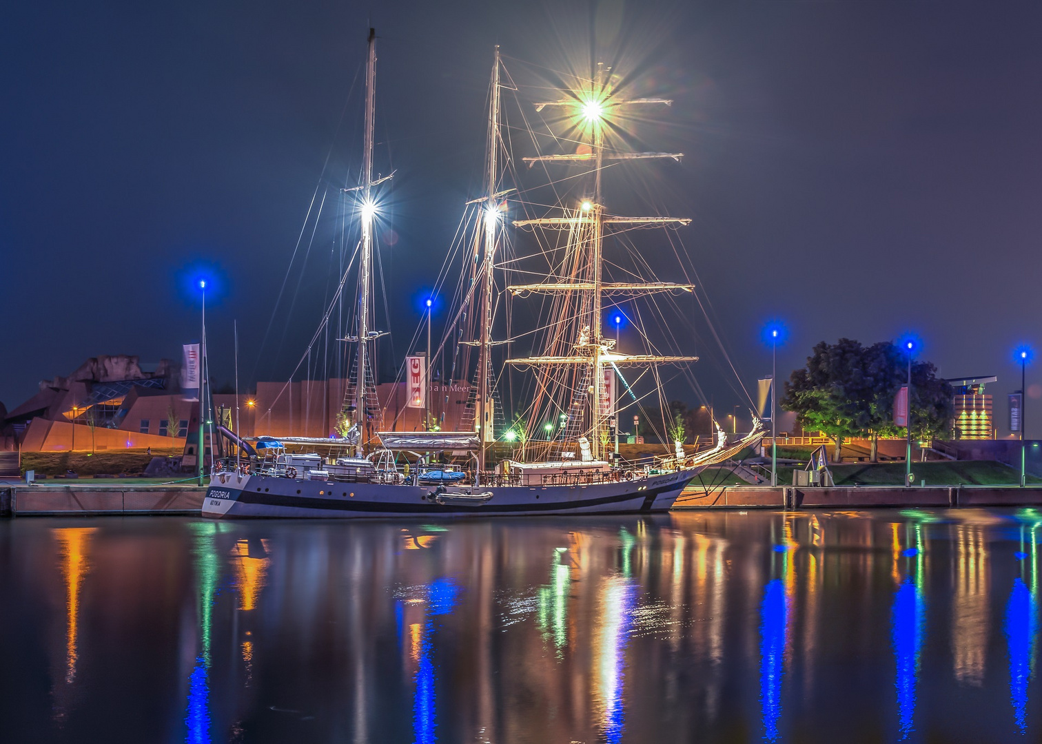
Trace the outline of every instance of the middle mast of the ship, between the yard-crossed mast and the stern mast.
{"label": "middle mast of the ship, between the yard-crossed mast and the stern mast", "polygon": [[498,176],[499,153],[499,45],[496,45],[496,59],[492,67],[492,95],[489,98],[489,142],[488,142],[488,204],[485,207],[485,253],[482,261],[481,291],[481,338],[477,362],[477,421],[480,448],[478,450],[478,477],[485,471],[486,446],[493,441],[493,415],[489,410],[489,370],[492,367],[492,268],[496,252],[496,227],[499,223],[499,206],[496,203],[496,180]]}

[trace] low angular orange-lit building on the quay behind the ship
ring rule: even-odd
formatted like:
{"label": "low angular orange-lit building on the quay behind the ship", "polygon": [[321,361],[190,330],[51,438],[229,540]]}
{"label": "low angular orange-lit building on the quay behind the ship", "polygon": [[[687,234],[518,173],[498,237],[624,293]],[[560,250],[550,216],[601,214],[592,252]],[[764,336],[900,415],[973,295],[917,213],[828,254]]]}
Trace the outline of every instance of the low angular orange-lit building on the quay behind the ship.
{"label": "low angular orange-lit building on the quay behind the ship", "polygon": [[[128,355],[88,359],[67,377],[42,381],[36,395],[6,414],[4,443],[26,451],[185,449],[198,431],[199,401],[195,391],[181,391],[179,379],[179,367],[168,359],[151,366]],[[246,438],[326,438],[336,432],[346,392],[342,378],[258,382],[238,398],[215,394],[215,417]],[[379,428],[423,428],[424,410],[406,406],[403,382],[378,385],[376,395],[380,411],[371,415]],[[472,428],[470,395],[468,382],[436,380],[431,421],[445,430]]]}

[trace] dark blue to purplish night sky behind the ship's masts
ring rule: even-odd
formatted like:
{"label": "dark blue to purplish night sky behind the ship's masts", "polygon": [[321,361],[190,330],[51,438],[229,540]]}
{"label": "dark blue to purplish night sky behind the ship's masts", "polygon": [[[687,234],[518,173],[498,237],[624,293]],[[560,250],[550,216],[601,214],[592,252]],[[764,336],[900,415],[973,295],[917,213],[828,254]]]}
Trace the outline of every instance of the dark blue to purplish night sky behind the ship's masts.
{"label": "dark blue to purplish night sky behind the ship's masts", "polygon": [[[818,341],[912,331],[942,376],[998,375],[1004,427],[1013,349],[1042,351],[1038,4],[44,1],[4,16],[8,408],[90,356],[177,358],[198,337],[201,274],[215,382],[232,378],[233,319],[243,386],[289,374],[330,280],[324,235],[292,312],[269,319],[316,185],[331,215],[357,172],[370,24],[375,170],[398,171],[383,256],[399,355],[480,195],[493,45],[519,74],[589,69],[591,35],[676,100],[647,134],[688,157],[646,168],[665,210],[694,218],[684,240],[747,382],[770,371],[770,319],[788,327],[782,376]],[[705,379],[719,406],[739,402]]]}

